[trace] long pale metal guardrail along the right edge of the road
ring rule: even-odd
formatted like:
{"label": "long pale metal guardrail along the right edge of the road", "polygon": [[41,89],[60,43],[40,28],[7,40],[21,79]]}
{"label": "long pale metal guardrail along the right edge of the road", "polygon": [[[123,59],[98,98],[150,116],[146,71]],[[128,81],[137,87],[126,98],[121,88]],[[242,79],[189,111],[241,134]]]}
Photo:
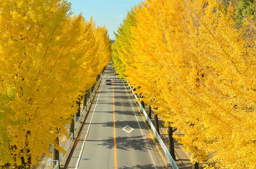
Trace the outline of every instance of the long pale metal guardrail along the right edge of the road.
{"label": "long pale metal guardrail along the right edge of the road", "polygon": [[143,114],[145,115],[147,121],[148,121],[148,124],[150,125],[151,129],[153,130],[154,134],[156,135],[156,138],[157,138],[157,141],[160,143],[163,151],[164,151],[164,154],[166,155],[166,157],[168,158],[168,160],[170,161],[171,165],[172,165],[172,168],[173,169],[179,169],[178,166],[176,165],[175,161],[173,160],[170,152],[168,151],[168,149],[166,148],[166,145],[164,144],[161,136],[157,133],[156,131],[156,128],[154,126],[154,124],[152,123],[152,121],[150,120],[150,118],[148,117],[148,114],[147,112],[144,110],[144,108],[142,107],[140,101],[138,100],[138,97],[136,96],[136,94],[134,93],[132,87],[130,86],[129,82],[127,81],[127,84],[129,85],[129,88],[130,90],[132,91],[132,94],[134,96],[134,98],[136,99],[136,101],[138,102],[138,105],[140,106],[141,108],[141,111],[143,112]]}

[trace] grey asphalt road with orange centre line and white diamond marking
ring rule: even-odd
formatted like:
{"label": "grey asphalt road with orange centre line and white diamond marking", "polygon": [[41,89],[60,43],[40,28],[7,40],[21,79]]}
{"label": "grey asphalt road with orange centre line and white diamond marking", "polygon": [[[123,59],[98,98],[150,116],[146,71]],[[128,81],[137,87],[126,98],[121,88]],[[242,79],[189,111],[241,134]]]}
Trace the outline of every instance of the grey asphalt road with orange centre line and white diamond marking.
{"label": "grey asphalt road with orange centre line and white diamond marking", "polygon": [[166,168],[159,152],[129,88],[109,65],[68,168]]}

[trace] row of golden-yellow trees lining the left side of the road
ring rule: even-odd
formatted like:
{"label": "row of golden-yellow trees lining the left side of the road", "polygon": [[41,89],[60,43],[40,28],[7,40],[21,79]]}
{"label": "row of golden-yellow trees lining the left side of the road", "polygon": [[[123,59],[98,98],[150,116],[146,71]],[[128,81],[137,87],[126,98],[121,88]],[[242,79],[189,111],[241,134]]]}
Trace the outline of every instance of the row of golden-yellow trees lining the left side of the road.
{"label": "row of golden-yellow trees lining the left side of the road", "polygon": [[[0,166],[49,154],[108,64],[104,27],[62,0],[0,0]],[[24,166],[25,167],[25,166]]]}

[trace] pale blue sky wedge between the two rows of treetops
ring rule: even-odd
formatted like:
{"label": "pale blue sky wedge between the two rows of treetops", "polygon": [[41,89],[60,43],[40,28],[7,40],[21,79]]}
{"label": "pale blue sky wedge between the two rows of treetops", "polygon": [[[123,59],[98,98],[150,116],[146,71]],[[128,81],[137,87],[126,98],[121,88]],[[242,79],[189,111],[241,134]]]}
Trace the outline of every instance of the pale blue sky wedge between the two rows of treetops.
{"label": "pale blue sky wedge between the two rows of treetops", "polygon": [[93,17],[97,26],[105,26],[108,29],[109,38],[115,39],[113,31],[117,31],[127,11],[140,0],[68,0],[72,3],[72,11],[75,14],[83,13],[86,20]]}

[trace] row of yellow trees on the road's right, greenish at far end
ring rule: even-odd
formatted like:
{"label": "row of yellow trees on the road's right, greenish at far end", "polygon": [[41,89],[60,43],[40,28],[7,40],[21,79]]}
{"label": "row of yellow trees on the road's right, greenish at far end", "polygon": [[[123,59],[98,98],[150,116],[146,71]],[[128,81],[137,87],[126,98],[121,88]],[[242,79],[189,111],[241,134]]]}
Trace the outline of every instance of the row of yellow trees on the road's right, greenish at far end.
{"label": "row of yellow trees on the road's right, greenish at far end", "polygon": [[[231,2],[231,1],[230,1]],[[256,40],[236,3],[147,0],[116,33],[113,62],[205,168],[256,168]]]}

